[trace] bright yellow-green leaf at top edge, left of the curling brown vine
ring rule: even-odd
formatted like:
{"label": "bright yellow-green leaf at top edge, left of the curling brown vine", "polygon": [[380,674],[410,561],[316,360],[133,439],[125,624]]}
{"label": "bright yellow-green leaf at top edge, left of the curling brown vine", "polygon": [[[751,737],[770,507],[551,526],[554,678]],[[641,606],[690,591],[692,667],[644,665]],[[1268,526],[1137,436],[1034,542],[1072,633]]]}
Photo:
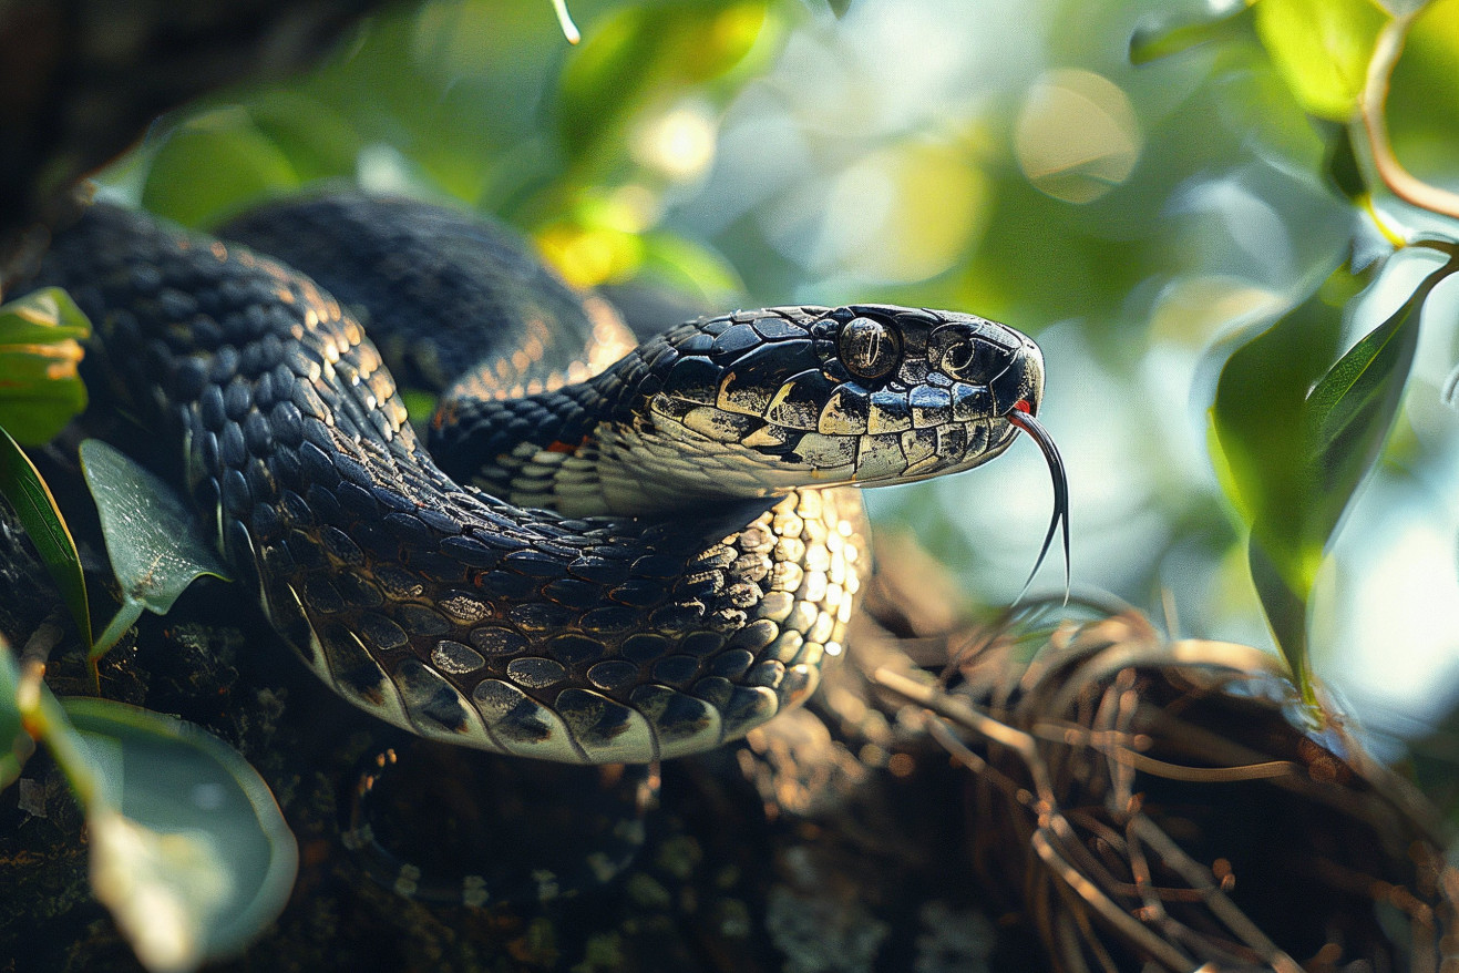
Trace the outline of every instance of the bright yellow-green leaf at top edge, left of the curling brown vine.
{"label": "bright yellow-green leaf at top edge, left of the curling brown vine", "polygon": [[1297,101],[1348,121],[1388,13],[1371,0],[1261,0],[1256,32]]}

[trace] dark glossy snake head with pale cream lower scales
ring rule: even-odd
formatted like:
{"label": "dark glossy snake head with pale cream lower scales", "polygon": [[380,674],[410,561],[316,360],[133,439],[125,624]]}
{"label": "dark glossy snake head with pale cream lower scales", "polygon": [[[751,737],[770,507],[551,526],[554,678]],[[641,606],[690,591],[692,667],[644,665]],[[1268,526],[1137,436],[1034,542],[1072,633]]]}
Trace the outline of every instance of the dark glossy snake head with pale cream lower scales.
{"label": "dark glossy snake head with pale cream lower scales", "polygon": [[594,436],[614,512],[976,467],[1037,413],[1043,354],[970,314],[767,308],[683,325],[608,373],[632,392]]}

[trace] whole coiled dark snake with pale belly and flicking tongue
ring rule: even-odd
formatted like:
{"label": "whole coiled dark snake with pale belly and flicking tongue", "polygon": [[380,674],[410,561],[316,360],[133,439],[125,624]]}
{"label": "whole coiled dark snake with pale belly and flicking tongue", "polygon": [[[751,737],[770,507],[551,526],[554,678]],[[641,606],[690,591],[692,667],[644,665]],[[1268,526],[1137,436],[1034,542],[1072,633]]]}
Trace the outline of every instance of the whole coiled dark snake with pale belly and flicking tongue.
{"label": "whole coiled dark snake with pale belly and flicking tongue", "polygon": [[[303,661],[502,754],[735,740],[843,649],[871,557],[854,487],[976,467],[1020,430],[1062,483],[1042,353],[1007,325],[776,306],[633,343],[509,230],[420,201],[285,200],[217,235],[96,203],[42,284],[93,324],[92,408],[165,443]],[[423,432],[406,387],[439,395]]]}

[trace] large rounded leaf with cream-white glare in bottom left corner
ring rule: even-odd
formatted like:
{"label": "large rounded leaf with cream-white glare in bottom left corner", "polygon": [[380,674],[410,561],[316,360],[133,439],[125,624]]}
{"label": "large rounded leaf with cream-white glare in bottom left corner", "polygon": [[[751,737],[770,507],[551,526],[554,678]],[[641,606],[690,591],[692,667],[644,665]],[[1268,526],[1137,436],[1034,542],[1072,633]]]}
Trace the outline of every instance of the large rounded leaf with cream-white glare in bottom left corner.
{"label": "large rounded leaf with cream-white glare in bottom left corner", "polygon": [[86,808],[92,888],[149,970],[242,950],[283,910],[298,845],[268,786],[206,731],[111,700],[67,699],[99,782]]}

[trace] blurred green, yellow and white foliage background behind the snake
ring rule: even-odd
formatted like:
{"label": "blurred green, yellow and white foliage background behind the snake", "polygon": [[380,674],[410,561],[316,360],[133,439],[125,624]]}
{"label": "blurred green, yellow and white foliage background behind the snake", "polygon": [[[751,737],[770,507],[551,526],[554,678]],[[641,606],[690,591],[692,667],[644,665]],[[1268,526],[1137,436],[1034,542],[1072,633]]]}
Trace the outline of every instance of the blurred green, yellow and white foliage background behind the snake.
{"label": "blurred green, yellow and white foliage background behind the snake", "polygon": [[[1215,379],[1240,338],[1377,239],[1325,177],[1336,127],[1299,105],[1293,66],[1263,45],[1274,28],[1234,16],[1218,41],[1134,67],[1137,29],[1214,7],[835,7],[573,0],[573,48],[547,0],[432,0],[368,22],[311,76],[163,118],[102,191],[207,228],[355,181],[499,214],[569,280],[626,302],[890,301],[1004,321],[1048,360],[1075,588],[1176,636],[1271,646],[1208,455]],[[1459,0],[1440,0],[1398,69],[1390,124],[1399,158],[1453,188],[1456,77]],[[1350,341],[1433,267],[1401,257]],[[1315,598],[1317,675],[1393,740],[1427,734],[1459,691],[1459,414],[1440,394],[1456,299],[1441,286],[1425,308],[1399,425]],[[1026,442],[867,500],[976,607],[1023,586],[1052,490]],[[1050,557],[1034,591],[1062,588],[1062,570]]]}

